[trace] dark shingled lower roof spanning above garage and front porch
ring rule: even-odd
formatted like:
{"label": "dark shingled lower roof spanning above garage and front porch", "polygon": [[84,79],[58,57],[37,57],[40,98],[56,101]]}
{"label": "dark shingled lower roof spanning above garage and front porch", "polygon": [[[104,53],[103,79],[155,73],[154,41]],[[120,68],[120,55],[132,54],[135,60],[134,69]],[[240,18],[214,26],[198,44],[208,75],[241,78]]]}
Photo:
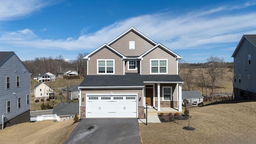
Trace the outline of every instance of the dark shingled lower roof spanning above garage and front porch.
{"label": "dark shingled lower roof spanning above garage and front porch", "polygon": [[179,75],[140,75],[138,73],[126,73],[126,75],[88,75],[79,86],[144,86],[144,82],[177,83],[183,81]]}

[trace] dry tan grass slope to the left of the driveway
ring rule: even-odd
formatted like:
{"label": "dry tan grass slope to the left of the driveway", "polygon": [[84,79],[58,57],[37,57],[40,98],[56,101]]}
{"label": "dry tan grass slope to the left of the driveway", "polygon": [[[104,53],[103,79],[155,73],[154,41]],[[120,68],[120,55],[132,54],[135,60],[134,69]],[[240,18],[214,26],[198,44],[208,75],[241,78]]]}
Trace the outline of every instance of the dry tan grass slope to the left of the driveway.
{"label": "dry tan grass slope to the left of the driveway", "polygon": [[22,123],[0,130],[1,144],[62,144],[78,123],[44,120]]}

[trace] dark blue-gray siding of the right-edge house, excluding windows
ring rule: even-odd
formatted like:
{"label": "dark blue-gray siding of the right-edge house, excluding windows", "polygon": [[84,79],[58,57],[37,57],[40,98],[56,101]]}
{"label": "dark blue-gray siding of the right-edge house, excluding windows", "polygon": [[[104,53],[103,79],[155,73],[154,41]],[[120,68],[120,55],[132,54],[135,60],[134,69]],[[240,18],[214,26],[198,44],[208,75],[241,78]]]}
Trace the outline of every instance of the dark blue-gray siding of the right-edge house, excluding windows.
{"label": "dark blue-gray siding of the right-edge house, excluding windows", "polygon": [[[251,55],[250,65],[248,64],[248,54]],[[234,74],[236,74],[234,88],[256,92],[256,47],[246,38],[234,56]],[[241,83],[239,83],[239,74],[241,74]],[[248,75],[250,75],[250,79],[248,79]]]}

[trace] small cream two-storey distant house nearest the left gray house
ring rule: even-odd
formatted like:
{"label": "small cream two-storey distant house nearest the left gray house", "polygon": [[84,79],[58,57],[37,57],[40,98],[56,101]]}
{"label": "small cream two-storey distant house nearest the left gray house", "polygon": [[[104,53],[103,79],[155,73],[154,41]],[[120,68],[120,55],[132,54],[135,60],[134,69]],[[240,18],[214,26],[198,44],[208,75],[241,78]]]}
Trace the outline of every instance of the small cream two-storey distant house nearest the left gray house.
{"label": "small cream two-storey distant house nearest the left gray house", "polygon": [[55,92],[52,88],[40,82],[34,86],[34,96],[36,100],[46,100],[47,98],[55,99]]}

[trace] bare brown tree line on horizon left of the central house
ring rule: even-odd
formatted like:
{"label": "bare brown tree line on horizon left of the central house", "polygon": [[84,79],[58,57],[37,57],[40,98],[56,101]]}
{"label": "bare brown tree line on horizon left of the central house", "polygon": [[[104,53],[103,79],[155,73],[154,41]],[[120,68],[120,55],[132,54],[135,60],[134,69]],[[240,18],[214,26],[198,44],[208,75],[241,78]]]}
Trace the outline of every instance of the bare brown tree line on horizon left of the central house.
{"label": "bare brown tree line on horizon left of the central house", "polygon": [[28,68],[32,74],[32,78],[38,77],[39,73],[50,72],[58,76],[60,72],[68,70],[76,70],[81,76],[86,76],[87,62],[84,57],[88,53],[78,53],[75,60],[65,60],[63,56],[59,55],[55,58],[52,56],[34,58],[33,60],[25,60],[23,64]]}

